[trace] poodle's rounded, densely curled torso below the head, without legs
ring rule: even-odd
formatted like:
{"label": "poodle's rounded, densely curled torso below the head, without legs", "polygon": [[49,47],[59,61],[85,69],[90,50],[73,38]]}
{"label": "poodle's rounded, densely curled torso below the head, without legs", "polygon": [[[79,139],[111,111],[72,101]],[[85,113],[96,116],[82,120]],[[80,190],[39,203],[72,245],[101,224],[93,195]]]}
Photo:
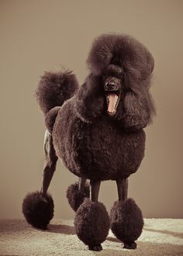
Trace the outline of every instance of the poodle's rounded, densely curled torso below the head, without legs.
{"label": "poodle's rounded, densely curled torso below the head, without legs", "polygon": [[144,154],[144,131],[126,132],[105,112],[87,122],[78,116],[76,104],[76,96],[64,103],[52,133],[57,156],[67,169],[78,177],[101,181],[136,172]]}

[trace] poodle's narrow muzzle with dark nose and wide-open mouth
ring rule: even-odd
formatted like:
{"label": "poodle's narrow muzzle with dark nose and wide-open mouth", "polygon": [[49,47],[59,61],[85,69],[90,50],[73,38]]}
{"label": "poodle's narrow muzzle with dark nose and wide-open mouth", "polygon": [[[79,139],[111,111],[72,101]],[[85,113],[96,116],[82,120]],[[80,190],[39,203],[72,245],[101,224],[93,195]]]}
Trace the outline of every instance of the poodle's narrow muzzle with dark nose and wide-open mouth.
{"label": "poodle's narrow muzzle with dark nose and wide-open mouth", "polygon": [[119,78],[109,77],[105,80],[105,96],[109,116],[115,116],[121,94],[121,81]]}

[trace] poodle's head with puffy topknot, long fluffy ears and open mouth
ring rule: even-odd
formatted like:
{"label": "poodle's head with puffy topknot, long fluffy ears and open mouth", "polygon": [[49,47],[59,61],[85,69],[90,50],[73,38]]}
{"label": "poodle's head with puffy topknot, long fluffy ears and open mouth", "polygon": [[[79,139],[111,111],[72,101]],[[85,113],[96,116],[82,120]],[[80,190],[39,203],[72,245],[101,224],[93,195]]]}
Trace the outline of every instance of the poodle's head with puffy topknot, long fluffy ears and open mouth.
{"label": "poodle's head with puffy topknot, long fluffy ears and open mouth", "polygon": [[85,118],[106,115],[126,130],[138,130],[151,122],[154,58],[142,43],[126,35],[99,36],[87,63],[90,74],[78,94]]}

